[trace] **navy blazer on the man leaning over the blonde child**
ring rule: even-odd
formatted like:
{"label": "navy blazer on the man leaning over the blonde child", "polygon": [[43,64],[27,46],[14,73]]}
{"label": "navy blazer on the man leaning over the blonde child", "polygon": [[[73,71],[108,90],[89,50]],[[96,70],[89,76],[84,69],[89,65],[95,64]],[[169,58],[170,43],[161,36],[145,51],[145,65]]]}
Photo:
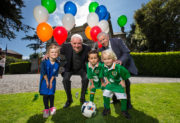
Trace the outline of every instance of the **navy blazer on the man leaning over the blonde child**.
{"label": "navy blazer on the man leaning over the blonde child", "polygon": [[[122,61],[122,65],[128,69],[130,73],[137,75],[138,70],[134,64],[134,60],[130,55],[130,50],[127,48],[124,42],[118,38],[111,38],[109,43],[111,43],[111,48],[116,54],[117,59]],[[106,50],[106,48],[102,47],[99,49],[100,52],[103,50]]]}

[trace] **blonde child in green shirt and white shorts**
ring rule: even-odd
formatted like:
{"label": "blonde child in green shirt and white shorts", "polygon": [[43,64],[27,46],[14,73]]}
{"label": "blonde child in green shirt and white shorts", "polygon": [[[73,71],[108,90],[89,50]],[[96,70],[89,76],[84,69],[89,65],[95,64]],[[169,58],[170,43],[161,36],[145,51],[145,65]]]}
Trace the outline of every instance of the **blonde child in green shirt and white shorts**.
{"label": "blonde child in green shirt and white shorts", "polygon": [[105,96],[105,107],[103,110],[103,115],[110,114],[110,97],[113,93],[116,95],[117,99],[121,99],[121,112],[122,115],[129,119],[130,115],[127,112],[127,96],[125,93],[125,81],[130,77],[130,73],[123,66],[116,64],[116,55],[112,50],[105,50],[101,55],[102,61],[104,62],[104,77],[107,85],[103,92]]}

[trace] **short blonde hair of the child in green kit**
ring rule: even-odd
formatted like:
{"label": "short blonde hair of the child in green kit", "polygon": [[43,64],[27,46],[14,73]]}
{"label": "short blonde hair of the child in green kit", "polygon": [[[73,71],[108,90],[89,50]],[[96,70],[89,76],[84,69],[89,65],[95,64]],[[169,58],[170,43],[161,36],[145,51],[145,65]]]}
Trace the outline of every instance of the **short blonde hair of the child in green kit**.
{"label": "short blonde hair of the child in green kit", "polygon": [[101,53],[101,59],[102,59],[102,60],[104,59],[104,55],[108,56],[109,58],[111,58],[111,59],[113,59],[113,60],[117,60],[116,54],[115,54],[111,49],[104,50],[104,51]]}

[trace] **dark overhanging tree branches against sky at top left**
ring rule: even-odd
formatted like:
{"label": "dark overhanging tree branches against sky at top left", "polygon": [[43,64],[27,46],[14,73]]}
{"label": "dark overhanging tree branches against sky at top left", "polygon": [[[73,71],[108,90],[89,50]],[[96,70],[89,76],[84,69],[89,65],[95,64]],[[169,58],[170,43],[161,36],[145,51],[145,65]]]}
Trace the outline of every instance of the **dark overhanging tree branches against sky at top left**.
{"label": "dark overhanging tree branches against sky at top left", "polygon": [[27,32],[30,26],[22,24],[23,0],[0,0],[0,38],[14,39],[14,31]]}

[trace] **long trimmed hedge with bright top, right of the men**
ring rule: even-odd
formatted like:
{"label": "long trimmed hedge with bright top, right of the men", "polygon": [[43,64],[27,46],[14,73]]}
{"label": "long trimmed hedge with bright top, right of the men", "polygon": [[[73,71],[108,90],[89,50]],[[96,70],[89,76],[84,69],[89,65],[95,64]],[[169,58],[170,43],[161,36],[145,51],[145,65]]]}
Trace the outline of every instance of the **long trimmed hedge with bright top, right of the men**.
{"label": "long trimmed hedge with bright top, right of the men", "polygon": [[138,75],[180,77],[180,51],[131,53]]}

